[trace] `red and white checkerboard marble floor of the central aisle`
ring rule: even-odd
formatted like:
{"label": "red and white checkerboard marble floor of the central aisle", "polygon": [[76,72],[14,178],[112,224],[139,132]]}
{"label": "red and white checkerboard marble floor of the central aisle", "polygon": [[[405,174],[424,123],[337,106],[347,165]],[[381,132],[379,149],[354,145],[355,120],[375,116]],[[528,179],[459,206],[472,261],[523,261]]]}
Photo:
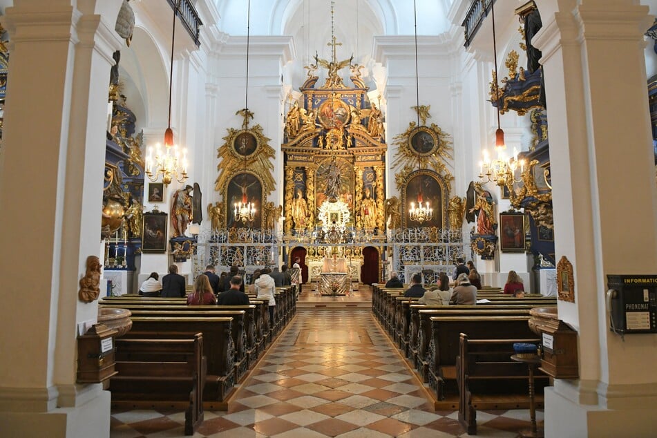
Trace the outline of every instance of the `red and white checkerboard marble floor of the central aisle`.
{"label": "red and white checkerboard marble floor of the central aisle", "polygon": [[[433,410],[369,310],[298,310],[230,410],[204,418],[194,437],[468,436],[458,412]],[[182,437],[183,423],[182,412],[113,410],[110,436]],[[478,437],[516,437],[529,411],[477,412],[477,423]]]}

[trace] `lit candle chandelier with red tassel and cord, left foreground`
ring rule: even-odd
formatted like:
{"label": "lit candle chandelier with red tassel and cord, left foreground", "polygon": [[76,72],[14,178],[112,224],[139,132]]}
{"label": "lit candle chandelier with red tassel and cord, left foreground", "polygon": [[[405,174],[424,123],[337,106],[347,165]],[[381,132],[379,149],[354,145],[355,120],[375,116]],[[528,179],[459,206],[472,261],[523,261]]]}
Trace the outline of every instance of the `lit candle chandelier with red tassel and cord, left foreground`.
{"label": "lit candle chandelier with red tassel and cord, left foreground", "polygon": [[171,91],[173,90],[173,41],[175,41],[175,16],[178,15],[180,0],[173,8],[173,30],[171,31],[171,71],[169,72],[169,126],[164,131],[164,149],[160,143],[155,144],[155,155],[153,146],[146,151],[146,166],[144,171],[149,180],[157,181],[162,175],[162,182],[168,186],[172,180],[180,183],[187,180],[187,149],[178,148],[173,144],[173,129],[171,129]]}

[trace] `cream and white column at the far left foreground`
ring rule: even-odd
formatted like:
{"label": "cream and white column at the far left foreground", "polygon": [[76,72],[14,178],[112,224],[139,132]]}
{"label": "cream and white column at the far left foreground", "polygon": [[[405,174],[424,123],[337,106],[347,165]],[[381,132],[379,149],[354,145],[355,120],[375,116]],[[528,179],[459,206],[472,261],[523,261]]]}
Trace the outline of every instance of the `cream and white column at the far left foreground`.
{"label": "cream and white column at the far left foreground", "polygon": [[11,61],[0,164],[2,434],[108,436],[110,394],[75,383],[77,323],[97,318],[97,303],[78,301],[77,290],[87,256],[101,255],[121,1],[14,3],[5,21]]}

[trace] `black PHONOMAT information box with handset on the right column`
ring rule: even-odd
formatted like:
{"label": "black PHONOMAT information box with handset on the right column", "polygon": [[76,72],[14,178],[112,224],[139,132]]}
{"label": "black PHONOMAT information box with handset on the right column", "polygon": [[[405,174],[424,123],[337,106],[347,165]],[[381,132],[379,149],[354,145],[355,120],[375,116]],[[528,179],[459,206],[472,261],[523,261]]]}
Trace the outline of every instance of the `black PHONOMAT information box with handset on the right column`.
{"label": "black PHONOMAT information box with handset on the right column", "polygon": [[657,276],[608,275],[607,287],[612,332],[657,333]]}

